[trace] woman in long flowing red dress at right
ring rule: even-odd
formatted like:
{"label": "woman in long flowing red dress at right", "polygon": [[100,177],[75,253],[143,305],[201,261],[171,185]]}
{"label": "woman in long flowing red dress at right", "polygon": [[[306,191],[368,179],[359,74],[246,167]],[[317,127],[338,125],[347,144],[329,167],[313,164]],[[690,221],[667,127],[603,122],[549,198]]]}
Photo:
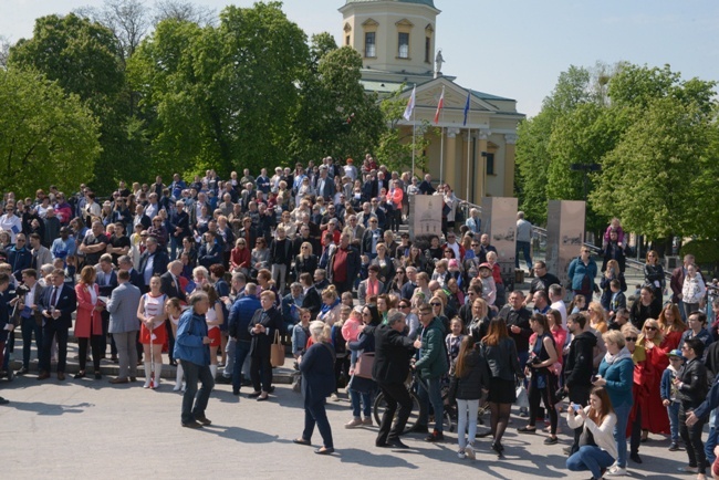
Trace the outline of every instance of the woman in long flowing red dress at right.
{"label": "woman in long flowing red dress at right", "polygon": [[654,319],[647,319],[644,322],[642,334],[639,335],[639,345],[644,347],[647,355],[647,364],[650,365],[650,375],[647,379],[648,396],[643,406],[644,415],[642,416],[642,441],[647,441],[649,431],[653,434],[669,435],[669,416],[667,408],[661,404],[659,393],[661,385],[661,374],[669,366],[669,352],[661,345],[664,333],[659,322]]}

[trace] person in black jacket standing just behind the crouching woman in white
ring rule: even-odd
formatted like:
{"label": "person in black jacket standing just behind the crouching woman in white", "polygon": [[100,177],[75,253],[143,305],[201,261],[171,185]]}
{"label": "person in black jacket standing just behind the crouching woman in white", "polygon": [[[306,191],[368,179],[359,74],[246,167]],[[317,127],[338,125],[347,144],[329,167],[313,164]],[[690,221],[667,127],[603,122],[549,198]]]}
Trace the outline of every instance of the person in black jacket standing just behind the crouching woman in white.
{"label": "person in black jacket standing just behind the crouching woman in white", "polygon": [[[566,327],[574,335],[570,344],[570,353],[564,366],[564,392],[570,394],[570,401],[583,407],[588,405],[592,390],[592,373],[594,371],[594,346],[596,336],[586,331],[586,317],[574,313],[566,319]],[[574,442],[570,447],[570,455],[580,448],[580,437],[583,427],[574,430]]]}

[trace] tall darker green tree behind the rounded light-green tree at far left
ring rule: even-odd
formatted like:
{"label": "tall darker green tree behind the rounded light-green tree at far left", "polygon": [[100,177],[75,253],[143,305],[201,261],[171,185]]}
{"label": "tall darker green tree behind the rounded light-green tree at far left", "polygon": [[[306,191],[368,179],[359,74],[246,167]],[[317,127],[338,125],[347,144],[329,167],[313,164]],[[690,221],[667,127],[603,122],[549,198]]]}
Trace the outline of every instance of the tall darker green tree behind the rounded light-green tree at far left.
{"label": "tall darker green tree behind the rounded light-green tree at far left", "polygon": [[11,50],[9,65],[35,69],[74,93],[101,122],[102,154],[85,181],[107,192],[121,178],[138,178],[148,170],[143,145],[131,129],[129,92],[122,52],[106,27],[73,13],[35,20],[33,36]]}

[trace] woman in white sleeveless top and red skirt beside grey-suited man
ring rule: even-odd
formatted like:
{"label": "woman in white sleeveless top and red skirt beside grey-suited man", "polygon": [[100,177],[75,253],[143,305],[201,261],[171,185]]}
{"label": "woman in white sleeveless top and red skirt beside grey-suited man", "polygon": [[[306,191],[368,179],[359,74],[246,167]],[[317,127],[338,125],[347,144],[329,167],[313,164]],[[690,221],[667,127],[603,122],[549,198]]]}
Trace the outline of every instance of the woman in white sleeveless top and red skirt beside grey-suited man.
{"label": "woman in white sleeveless top and red skirt beside grey-suited man", "polygon": [[[139,332],[139,343],[143,344],[145,352],[145,385],[144,388],[159,387],[159,378],[163,372],[163,345],[167,338],[165,320],[167,311],[165,310],[165,300],[167,295],[159,291],[159,276],[155,275],[149,280],[149,292],[139,299],[137,306],[137,317],[142,322]],[[150,357],[152,355],[152,357]],[[154,375],[150,376],[153,371]]]}

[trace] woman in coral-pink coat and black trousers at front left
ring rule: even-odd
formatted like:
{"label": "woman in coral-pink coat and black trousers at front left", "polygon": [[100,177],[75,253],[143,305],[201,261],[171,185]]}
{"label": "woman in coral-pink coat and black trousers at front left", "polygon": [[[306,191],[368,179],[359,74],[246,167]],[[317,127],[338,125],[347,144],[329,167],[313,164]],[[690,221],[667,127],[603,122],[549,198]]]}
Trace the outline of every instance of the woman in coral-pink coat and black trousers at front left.
{"label": "woman in coral-pink coat and black trousers at front left", "polygon": [[77,295],[75,336],[80,347],[80,372],[75,374],[75,378],[85,376],[87,343],[92,345],[95,379],[102,378],[100,373],[100,359],[103,355],[103,321],[101,312],[105,304],[100,300],[100,286],[95,283],[96,275],[94,267],[85,265],[80,273],[80,282],[75,285],[75,294]]}

